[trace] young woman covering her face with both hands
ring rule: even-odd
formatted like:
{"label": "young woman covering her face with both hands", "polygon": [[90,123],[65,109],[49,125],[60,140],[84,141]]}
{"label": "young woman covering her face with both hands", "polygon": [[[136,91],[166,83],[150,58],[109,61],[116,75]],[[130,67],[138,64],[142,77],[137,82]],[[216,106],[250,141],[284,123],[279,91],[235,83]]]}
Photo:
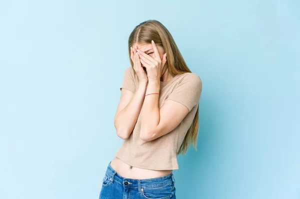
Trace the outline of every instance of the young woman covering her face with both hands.
{"label": "young woman covering her face with both hands", "polygon": [[128,52],[131,66],[114,118],[124,141],[108,163],[99,198],[176,198],[172,170],[190,142],[196,148],[201,79],[157,20],[133,29]]}

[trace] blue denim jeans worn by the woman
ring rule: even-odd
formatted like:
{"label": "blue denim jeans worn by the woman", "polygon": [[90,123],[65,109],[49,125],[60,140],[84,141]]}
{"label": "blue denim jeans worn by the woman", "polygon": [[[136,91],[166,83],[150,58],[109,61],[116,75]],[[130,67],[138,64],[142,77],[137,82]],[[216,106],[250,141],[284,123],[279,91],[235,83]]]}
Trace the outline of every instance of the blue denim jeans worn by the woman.
{"label": "blue denim jeans worn by the woman", "polygon": [[147,179],[125,178],[108,163],[102,178],[99,199],[175,199],[175,179],[173,172]]}

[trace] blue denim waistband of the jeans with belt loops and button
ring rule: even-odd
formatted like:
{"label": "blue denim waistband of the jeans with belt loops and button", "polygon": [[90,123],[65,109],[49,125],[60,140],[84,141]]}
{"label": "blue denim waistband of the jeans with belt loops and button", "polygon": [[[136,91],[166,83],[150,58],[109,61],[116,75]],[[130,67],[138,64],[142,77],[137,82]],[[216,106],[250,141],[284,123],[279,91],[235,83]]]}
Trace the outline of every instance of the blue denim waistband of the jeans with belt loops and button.
{"label": "blue denim waistband of the jeans with belt loops and button", "polygon": [[111,181],[118,181],[119,183],[123,184],[124,186],[128,187],[138,187],[141,186],[146,188],[150,187],[157,187],[162,186],[164,184],[168,184],[171,182],[175,182],[173,172],[163,175],[160,177],[154,177],[154,178],[146,178],[146,179],[133,179],[133,178],[126,178],[121,176],[119,173],[117,173],[110,165],[110,162],[108,163],[107,169],[106,169],[106,175],[110,178]]}

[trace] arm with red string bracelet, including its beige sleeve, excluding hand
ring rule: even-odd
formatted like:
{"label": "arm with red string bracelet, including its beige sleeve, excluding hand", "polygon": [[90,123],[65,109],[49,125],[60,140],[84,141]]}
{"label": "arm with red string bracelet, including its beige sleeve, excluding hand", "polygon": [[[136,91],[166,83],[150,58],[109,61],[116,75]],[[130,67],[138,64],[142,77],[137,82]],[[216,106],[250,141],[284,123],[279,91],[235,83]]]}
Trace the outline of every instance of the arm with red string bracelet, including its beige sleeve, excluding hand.
{"label": "arm with red string bracelet, including its beige sleeve, excluding hand", "polygon": [[[191,108],[197,105],[202,83],[195,73],[187,74],[176,85],[162,107],[158,108],[158,94],[145,96],[141,110],[140,139],[150,141],[173,130]],[[146,93],[159,91],[156,81],[149,81]]]}

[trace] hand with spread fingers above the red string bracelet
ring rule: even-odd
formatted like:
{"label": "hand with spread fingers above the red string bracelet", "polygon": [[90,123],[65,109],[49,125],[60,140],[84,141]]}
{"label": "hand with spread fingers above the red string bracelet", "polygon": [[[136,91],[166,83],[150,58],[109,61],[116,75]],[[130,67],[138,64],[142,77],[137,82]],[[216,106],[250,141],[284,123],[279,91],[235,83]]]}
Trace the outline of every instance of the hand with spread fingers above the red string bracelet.
{"label": "hand with spread fingers above the red string bracelet", "polygon": [[145,66],[147,70],[148,81],[156,80],[157,82],[160,82],[161,70],[166,62],[166,53],[164,53],[162,59],[160,59],[158,49],[153,40],[152,46],[155,55],[154,58],[139,49],[137,49],[137,54],[139,56],[140,62]]}

